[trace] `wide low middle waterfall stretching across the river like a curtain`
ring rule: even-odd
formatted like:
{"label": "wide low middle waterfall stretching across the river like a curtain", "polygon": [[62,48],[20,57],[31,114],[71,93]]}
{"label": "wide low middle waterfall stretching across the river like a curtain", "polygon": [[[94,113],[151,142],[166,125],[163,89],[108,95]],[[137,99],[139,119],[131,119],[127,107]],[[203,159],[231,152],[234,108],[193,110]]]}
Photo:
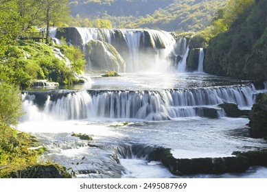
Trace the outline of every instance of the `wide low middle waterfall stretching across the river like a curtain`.
{"label": "wide low middle waterfall stretching across the river like a curtain", "polygon": [[231,102],[240,108],[255,103],[253,84],[163,91],[55,91],[23,93],[25,119],[170,120],[201,116],[202,108],[218,109]]}

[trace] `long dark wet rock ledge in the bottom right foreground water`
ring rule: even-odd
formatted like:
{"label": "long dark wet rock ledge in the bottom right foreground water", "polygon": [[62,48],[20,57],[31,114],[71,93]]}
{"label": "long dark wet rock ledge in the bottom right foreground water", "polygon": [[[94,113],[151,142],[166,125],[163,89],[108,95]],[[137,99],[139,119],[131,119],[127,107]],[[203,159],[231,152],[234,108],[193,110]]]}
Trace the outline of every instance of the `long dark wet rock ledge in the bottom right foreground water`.
{"label": "long dark wet rock ledge in the bottom right foreground water", "polygon": [[149,158],[159,160],[173,174],[178,176],[194,174],[240,173],[250,166],[244,156],[222,158],[174,158],[170,149],[160,147],[150,153]]}

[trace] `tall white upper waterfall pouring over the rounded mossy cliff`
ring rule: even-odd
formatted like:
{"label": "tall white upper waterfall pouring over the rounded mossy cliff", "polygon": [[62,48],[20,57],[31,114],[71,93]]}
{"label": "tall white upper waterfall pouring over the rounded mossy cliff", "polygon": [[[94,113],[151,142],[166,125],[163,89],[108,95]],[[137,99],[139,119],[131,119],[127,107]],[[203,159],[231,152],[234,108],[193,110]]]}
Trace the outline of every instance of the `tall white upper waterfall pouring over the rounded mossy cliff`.
{"label": "tall white upper waterfall pouring over the rounded mossy cliff", "polygon": [[[91,40],[108,43],[124,58],[126,72],[163,72],[173,67],[169,56],[175,52],[176,40],[169,32],[152,29],[66,27],[60,30],[53,29],[50,35],[54,39],[63,37],[68,43],[84,51],[86,51],[86,44]],[[91,62],[90,56],[86,57]],[[94,63],[91,62],[91,65],[94,66]],[[97,66],[95,68],[97,69]]]}

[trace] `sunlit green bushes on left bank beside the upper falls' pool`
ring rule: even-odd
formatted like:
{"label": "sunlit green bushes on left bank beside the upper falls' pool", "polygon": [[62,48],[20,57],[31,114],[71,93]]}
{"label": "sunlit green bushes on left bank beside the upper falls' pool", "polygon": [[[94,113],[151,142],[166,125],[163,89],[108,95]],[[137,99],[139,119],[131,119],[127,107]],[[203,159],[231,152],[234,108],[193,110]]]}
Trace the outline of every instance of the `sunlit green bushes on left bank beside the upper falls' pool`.
{"label": "sunlit green bushes on left bank beside the upper falls' pool", "polygon": [[5,51],[5,60],[0,61],[0,80],[12,82],[27,88],[32,80],[48,80],[59,84],[73,84],[76,78],[73,72],[84,71],[84,55],[80,49],[58,45],[71,61],[67,67],[64,60],[56,58],[53,47],[32,41],[19,41],[19,45],[9,46]]}

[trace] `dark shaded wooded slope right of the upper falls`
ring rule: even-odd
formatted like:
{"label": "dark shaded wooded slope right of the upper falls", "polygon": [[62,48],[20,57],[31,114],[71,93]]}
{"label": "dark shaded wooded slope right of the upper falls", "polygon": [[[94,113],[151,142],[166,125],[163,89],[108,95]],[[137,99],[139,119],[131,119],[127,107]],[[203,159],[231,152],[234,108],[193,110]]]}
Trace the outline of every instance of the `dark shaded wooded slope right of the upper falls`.
{"label": "dark shaded wooded slope right of the upper falls", "polygon": [[[267,1],[230,0],[214,20],[205,71],[267,80]],[[221,31],[218,33],[218,31]]]}

